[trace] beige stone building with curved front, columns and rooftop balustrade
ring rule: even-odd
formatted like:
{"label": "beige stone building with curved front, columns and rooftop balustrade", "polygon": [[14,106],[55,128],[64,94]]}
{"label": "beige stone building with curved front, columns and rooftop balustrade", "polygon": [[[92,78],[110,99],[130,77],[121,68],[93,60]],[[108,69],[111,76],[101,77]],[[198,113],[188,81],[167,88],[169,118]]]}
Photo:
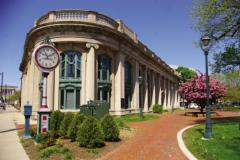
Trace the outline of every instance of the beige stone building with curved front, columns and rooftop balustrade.
{"label": "beige stone building with curved front, columns and rooftop balustrade", "polygon": [[41,73],[31,59],[33,49],[48,36],[61,62],[48,76],[48,106],[77,111],[89,100],[110,103],[110,113],[123,115],[179,106],[178,75],[148,49],[121,20],[94,11],[50,11],[28,32],[22,62],[21,106],[38,110]]}

